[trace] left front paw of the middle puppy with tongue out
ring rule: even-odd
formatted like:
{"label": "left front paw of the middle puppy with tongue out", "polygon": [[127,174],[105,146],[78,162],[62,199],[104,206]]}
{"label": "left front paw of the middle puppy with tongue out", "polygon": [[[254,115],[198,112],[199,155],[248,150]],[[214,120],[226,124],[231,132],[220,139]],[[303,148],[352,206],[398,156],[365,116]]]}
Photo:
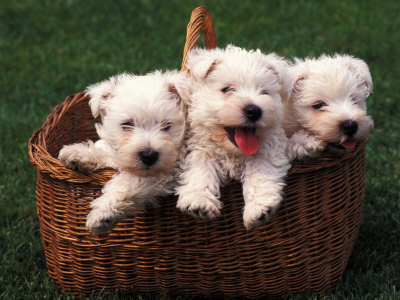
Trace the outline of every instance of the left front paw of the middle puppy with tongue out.
{"label": "left front paw of the middle puppy with tongue out", "polygon": [[213,219],[221,214],[221,206],[216,197],[198,193],[191,194],[190,197],[180,195],[176,207],[195,218]]}

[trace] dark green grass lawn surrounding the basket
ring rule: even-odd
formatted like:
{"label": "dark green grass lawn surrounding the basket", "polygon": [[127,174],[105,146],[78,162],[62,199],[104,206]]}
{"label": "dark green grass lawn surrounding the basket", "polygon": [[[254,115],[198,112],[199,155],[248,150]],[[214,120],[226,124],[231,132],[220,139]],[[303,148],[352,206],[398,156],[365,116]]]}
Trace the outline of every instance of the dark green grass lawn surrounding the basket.
{"label": "dark green grass lawn surrounding the basket", "polygon": [[[375,120],[364,220],[343,281],[298,299],[400,298],[399,1],[78,1],[0,3],[0,298],[67,299],[47,275],[27,143],[53,107],[129,71],[179,68],[191,10],[205,4],[219,45],[286,57],[345,52],[370,66]],[[116,292],[91,298],[161,298]],[[288,296],[288,298],[291,298]]]}

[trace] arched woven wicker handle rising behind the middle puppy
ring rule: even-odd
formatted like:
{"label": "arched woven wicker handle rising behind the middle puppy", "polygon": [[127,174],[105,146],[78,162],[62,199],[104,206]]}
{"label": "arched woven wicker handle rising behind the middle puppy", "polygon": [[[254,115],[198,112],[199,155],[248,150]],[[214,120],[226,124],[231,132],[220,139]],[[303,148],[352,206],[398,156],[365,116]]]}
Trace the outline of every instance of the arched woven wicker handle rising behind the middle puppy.
{"label": "arched woven wicker handle rising behind the middle puppy", "polygon": [[217,47],[217,38],[215,36],[214,22],[211,13],[205,6],[199,6],[193,9],[189,24],[186,29],[186,43],[183,49],[182,71],[187,71],[186,62],[190,50],[197,46],[200,38],[200,32],[204,35],[204,43],[207,49]]}

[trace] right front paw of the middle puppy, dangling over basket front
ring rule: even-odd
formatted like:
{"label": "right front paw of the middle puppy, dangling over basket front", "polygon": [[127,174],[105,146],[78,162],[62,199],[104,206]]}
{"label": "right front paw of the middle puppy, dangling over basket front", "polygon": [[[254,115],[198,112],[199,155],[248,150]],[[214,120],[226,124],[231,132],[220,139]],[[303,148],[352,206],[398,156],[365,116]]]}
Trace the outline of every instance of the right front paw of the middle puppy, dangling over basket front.
{"label": "right front paw of the middle puppy, dangling over basket front", "polygon": [[268,222],[274,209],[266,204],[250,203],[246,204],[243,211],[243,223],[247,230]]}

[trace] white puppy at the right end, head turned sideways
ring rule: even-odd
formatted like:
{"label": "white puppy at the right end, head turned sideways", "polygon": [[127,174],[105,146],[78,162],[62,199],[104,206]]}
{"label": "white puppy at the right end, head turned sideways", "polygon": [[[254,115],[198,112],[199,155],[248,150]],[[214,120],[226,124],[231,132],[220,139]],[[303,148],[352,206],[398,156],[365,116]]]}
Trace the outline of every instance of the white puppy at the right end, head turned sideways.
{"label": "white puppy at the right end, head turned sideways", "polygon": [[297,59],[289,75],[283,126],[290,159],[315,157],[326,148],[344,154],[368,138],[373,121],[365,99],[372,79],[364,61],[338,54]]}

